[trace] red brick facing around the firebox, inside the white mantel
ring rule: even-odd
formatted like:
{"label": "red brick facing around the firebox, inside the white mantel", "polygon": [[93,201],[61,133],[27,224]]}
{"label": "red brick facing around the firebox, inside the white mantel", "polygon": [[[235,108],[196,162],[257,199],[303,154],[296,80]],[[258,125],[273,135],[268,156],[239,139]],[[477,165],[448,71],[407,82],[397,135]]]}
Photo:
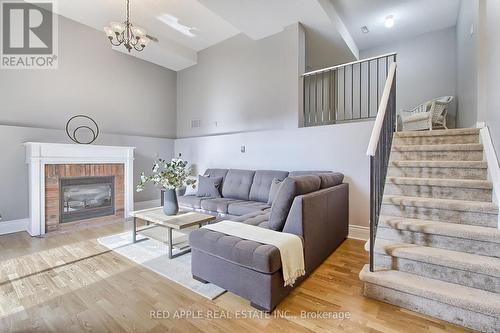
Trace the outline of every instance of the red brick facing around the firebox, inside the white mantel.
{"label": "red brick facing around the firebox, inside the white mantel", "polygon": [[[60,179],[76,177],[115,177],[115,214],[94,219],[106,221],[124,217],[124,167],[123,164],[48,164],[45,166],[45,230],[59,229]],[[83,220],[85,221],[85,220]],[[64,223],[70,226],[83,222]]]}

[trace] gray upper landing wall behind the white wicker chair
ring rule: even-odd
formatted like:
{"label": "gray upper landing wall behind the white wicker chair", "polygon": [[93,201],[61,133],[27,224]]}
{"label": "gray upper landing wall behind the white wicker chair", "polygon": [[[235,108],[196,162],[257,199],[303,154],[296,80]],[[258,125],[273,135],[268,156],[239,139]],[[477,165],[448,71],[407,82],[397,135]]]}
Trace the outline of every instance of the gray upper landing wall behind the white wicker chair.
{"label": "gray upper landing wall behind the white wicker chair", "polygon": [[[456,96],[455,27],[429,32],[393,44],[360,51],[369,58],[397,52],[397,110],[409,109],[438,96]],[[456,104],[448,121],[455,123]]]}

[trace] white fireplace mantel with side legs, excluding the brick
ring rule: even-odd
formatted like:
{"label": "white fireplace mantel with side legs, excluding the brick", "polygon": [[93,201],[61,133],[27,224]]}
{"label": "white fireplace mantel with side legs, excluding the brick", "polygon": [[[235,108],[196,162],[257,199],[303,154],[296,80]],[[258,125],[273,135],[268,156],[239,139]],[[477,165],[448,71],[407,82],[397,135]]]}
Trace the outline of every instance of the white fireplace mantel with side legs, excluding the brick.
{"label": "white fireplace mantel with side legs, excluding the brick", "polygon": [[29,165],[28,232],[31,236],[45,234],[45,165],[47,164],[123,164],[124,210],[129,217],[134,209],[134,147],[94,146],[61,143],[26,142],[26,163]]}

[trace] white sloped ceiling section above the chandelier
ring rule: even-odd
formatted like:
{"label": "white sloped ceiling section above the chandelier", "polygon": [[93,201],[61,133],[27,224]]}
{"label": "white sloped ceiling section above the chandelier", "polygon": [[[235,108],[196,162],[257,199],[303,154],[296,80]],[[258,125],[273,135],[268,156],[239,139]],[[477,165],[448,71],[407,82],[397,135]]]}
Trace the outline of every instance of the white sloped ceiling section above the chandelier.
{"label": "white sloped ceiling section above the chandelier", "polygon": [[[196,64],[198,51],[239,33],[197,0],[131,0],[130,6],[132,23],[159,40],[159,43],[151,42],[143,52],[131,55],[172,70]],[[110,21],[125,21],[125,8],[125,0],[59,0],[56,12],[102,30]],[[164,14],[196,28],[195,37],[186,36],[159,20]]]}

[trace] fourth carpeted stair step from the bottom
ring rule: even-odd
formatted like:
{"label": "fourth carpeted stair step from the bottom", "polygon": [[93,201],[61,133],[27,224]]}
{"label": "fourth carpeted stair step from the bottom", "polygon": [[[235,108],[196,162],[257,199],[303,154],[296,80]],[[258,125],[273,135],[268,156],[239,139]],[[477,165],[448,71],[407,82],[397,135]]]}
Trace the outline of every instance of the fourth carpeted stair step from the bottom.
{"label": "fourth carpeted stair step from the bottom", "polygon": [[496,228],[498,207],[491,202],[384,195],[382,215]]}

